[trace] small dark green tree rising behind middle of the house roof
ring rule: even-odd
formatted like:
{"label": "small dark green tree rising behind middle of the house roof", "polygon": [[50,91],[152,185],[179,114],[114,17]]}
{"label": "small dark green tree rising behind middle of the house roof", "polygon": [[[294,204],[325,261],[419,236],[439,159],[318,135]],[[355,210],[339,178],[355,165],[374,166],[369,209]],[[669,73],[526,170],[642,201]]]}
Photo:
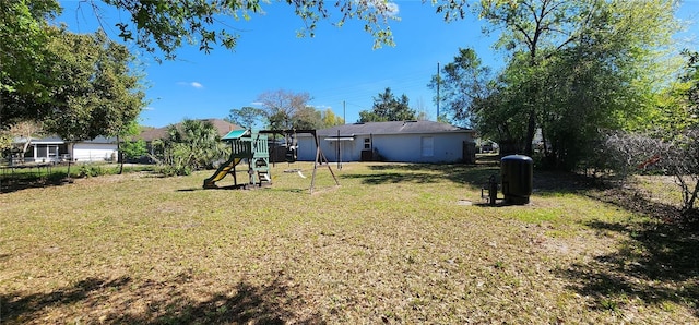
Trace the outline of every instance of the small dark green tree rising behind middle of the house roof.
{"label": "small dark green tree rising behind middle of the house roof", "polygon": [[387,87],[378,97],[374,97],[374,107],[370,111],[359,111],[359,122],[384,122],[416,120],[415,110],[410,108],[405,94],[396,99],[390,87]]}

